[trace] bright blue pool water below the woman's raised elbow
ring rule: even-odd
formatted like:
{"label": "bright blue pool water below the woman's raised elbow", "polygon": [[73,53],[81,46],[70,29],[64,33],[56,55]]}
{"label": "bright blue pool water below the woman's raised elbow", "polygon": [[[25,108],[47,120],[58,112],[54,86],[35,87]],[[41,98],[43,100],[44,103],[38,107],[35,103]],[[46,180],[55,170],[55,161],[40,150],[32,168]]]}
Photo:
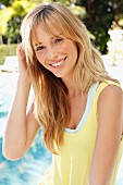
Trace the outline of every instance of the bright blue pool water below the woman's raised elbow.
{"label": "bright blue pool water below the woman's raised elbow", "polygon": [[[51,155],[40,145],[39,135],[32,148],[17,161],[9,161],[0,152],[0,185],[36,185],[51,163]],[[0,151],[2,138],[0,138]]]}

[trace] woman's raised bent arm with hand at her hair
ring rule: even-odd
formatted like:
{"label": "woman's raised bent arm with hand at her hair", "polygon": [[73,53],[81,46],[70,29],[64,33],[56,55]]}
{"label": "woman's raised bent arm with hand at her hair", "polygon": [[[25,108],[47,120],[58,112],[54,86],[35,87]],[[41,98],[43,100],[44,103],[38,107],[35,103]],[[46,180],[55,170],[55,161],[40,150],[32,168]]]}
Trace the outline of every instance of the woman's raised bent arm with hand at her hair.
{"label": "woman's raised bent arm with hand at her hair", "polygon": [[17,160],[25,153],[39,130],[33,114],[33,106],[26,115],[30,82],[27,74],[25,53],[21,45],[16,53],[20,74],[13,106],[8,116],[2,147],[3,156],[10,160]]}

